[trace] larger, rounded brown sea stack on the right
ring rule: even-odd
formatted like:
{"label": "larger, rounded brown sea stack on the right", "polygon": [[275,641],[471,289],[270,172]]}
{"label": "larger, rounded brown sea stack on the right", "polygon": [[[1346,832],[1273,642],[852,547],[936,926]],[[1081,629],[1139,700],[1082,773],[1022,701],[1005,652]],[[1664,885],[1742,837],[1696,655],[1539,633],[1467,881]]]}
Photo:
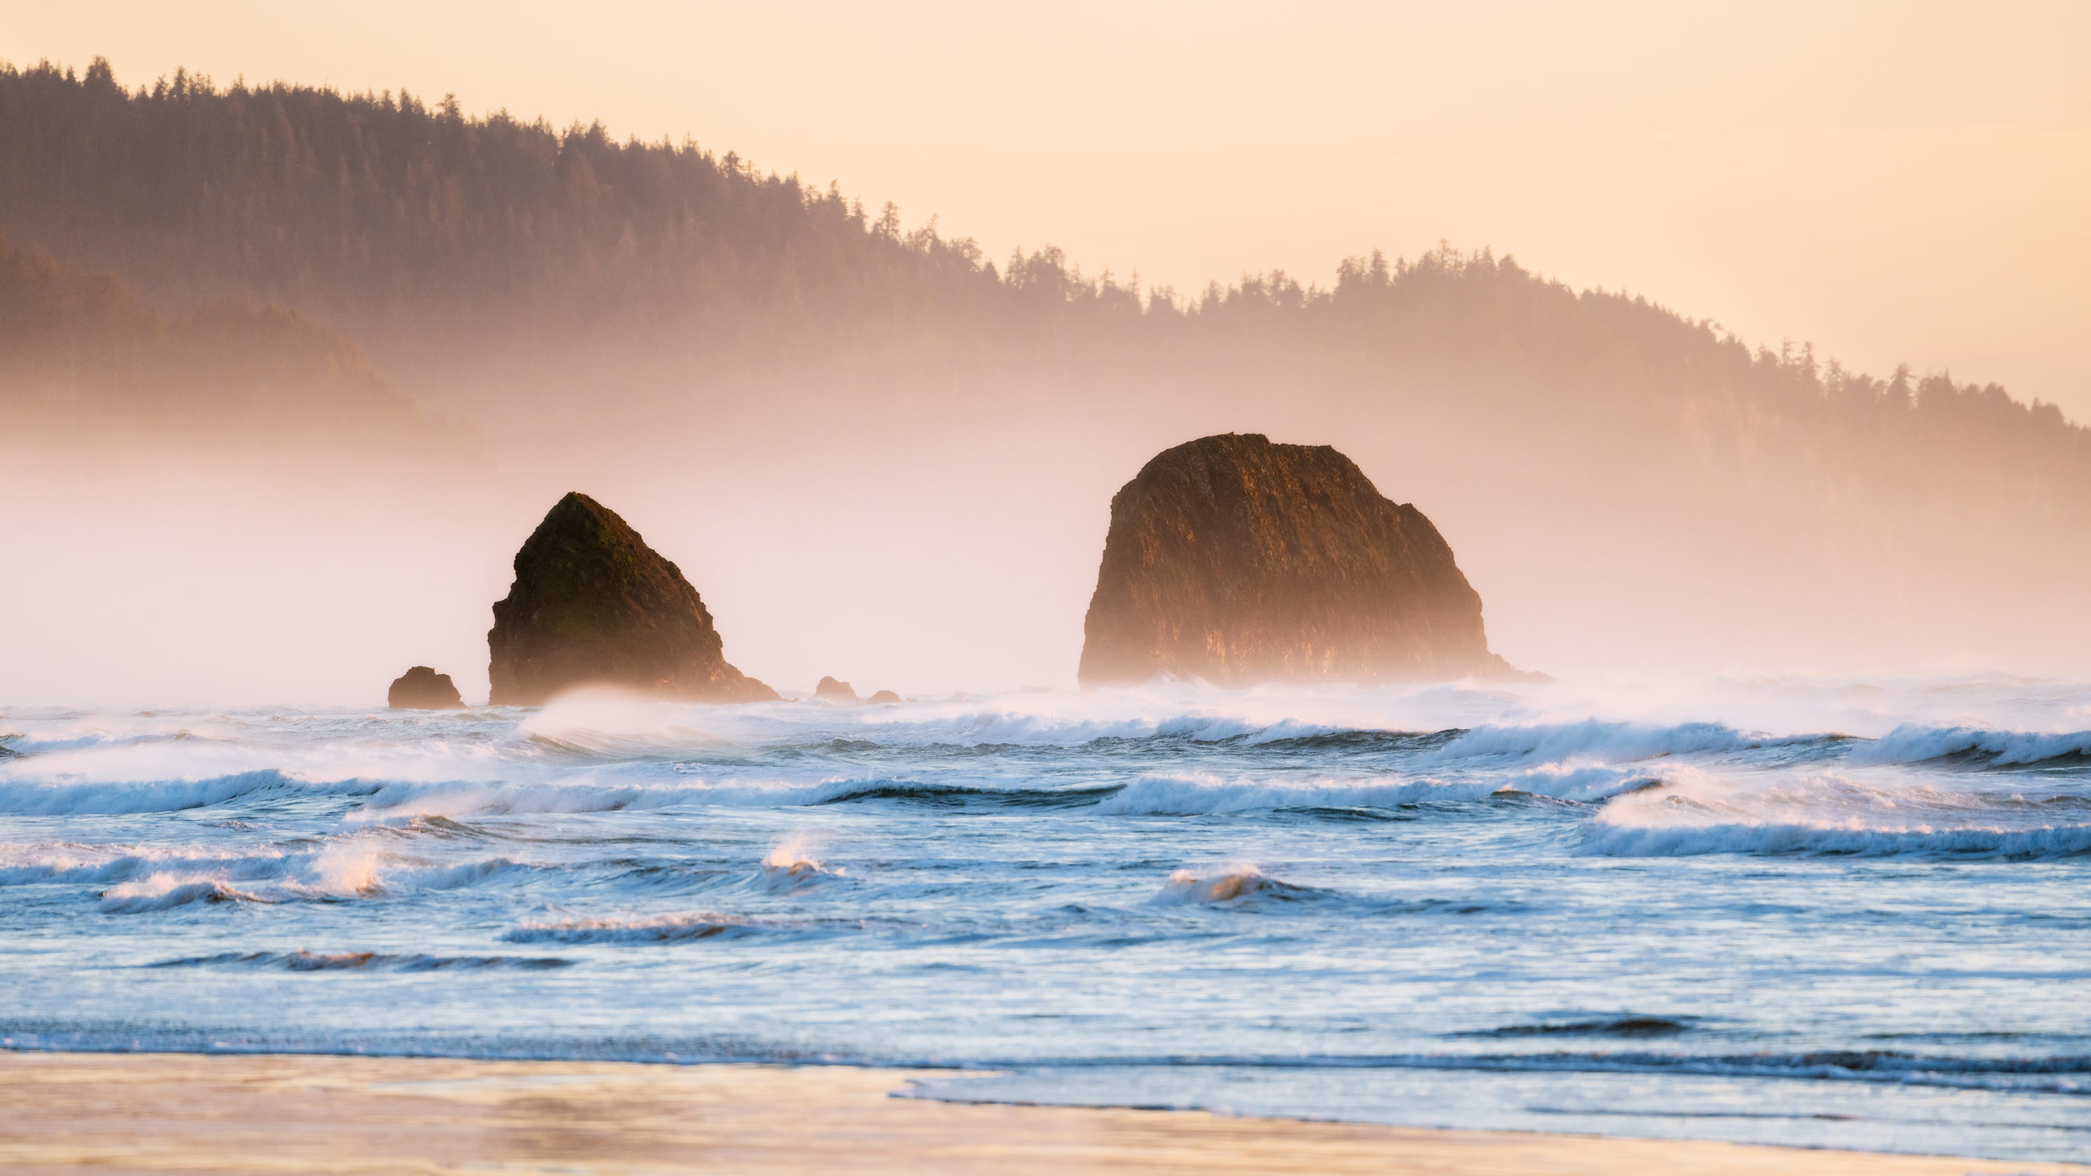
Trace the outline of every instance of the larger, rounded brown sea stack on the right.
{"label": "larger, rounded brown sea stack on the right", "polygon": [[1225,433],[1161,452],[1110,500],[1081,684],[1158,676],[1414,682],[1518,676],[1480,594],[1409,504],[1330,446]]}

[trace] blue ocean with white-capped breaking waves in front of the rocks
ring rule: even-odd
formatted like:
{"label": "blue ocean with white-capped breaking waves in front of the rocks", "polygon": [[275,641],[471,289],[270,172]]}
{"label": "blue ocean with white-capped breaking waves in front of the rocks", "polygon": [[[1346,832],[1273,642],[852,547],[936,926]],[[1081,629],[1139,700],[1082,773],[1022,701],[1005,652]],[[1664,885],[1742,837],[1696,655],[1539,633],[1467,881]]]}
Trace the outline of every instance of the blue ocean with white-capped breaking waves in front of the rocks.
{"label": "blue ocean with white-capped breaking waves in front of the rocks", "polygon": [[2091,1155],[2091,682],[0,711],[0,1046]]}

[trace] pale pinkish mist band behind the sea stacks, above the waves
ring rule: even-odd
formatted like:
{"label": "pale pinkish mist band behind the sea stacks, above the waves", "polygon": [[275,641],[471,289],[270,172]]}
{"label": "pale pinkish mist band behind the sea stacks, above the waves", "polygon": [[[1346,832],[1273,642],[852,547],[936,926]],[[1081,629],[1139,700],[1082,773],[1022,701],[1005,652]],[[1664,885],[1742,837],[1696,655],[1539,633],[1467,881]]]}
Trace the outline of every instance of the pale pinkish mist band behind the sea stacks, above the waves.
{"label": "pale pinkish mist band behind the sea stacks, above the waves", "polygon": [[19,435],[0,490],[27,559],[0,569],[0,603],[38,624],[10,634],[0,699],[368,705],[422,663],[483,701],[489,605],[567,490],[673,559],[728,659],[784,691],[824,674],[1069,686],[1110,496],[1154,452],[1227,429],[1334,442],[1416,502],[1480,592],[1491,647],[1529,670],[2055,674],[2091,640],[2062,515],[1890,511],[1892,483],[1857,519],[1809,513],[1790,485],[1706,504],[1660,471],[1621,485],[1608,471],[1639,458],[1564,456],[1495,410],[1246,391],[1048,410],[983,389],[951,414],[818,383],[788,395],[757,421],[675,402],[546,414],[435,458]]}

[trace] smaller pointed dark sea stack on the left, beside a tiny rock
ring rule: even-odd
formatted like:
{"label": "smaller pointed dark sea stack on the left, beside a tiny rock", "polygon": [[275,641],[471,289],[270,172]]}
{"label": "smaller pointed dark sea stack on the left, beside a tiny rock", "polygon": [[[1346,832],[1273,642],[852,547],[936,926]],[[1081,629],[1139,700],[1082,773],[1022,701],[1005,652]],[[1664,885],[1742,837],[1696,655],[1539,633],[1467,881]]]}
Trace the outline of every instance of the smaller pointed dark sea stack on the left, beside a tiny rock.
{"label": "smaller pointed dark sea stack on the left, beside a tiny rock", "polygon": [[711,703],[778,697],[726,663],[719,630],[682,571],[585,494],[560,498],[516,552],[487,651],[498,707],[573,686]]}

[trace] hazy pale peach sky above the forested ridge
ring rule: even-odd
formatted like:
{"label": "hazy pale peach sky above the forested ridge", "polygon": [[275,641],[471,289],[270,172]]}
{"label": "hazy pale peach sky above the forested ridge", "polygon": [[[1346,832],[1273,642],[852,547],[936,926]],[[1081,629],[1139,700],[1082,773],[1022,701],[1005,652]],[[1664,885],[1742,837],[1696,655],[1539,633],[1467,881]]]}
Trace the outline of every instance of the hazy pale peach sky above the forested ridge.
{"label": "hazy pale peach sky above the forested ridge", "polygon": [[694,136],[1179,291],[1487,245],[2091,421],[2081,0],[0,6],[94,54]]}

